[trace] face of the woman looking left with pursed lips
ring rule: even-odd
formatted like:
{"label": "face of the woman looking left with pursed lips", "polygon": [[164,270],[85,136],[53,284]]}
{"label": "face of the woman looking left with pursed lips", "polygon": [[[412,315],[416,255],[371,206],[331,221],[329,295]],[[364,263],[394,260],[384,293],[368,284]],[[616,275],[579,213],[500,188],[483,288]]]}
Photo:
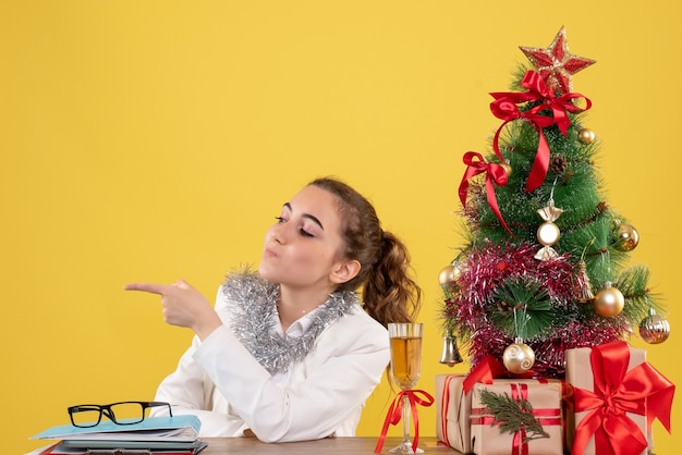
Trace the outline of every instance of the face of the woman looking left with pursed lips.
{"label": "face of the woman looking left with pursed lips", "polygon": [[313,185],[282,207],[266,234],[260,275],[292,287],[336,287],[333,271],[345,262],[337,197]]}

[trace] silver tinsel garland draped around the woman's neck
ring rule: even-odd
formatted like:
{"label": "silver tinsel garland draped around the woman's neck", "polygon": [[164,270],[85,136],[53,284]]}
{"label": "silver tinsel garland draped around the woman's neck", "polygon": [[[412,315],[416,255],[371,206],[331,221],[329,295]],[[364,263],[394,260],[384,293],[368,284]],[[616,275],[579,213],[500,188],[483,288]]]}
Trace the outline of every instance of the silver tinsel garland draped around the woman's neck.
{"label": "silver tinsel garland draped around the woman's neck", "polygon": [[279,284],[245,270],[229,274],[221,293],[231,312],[232,332],[270,374],[284,372],[301,361],[317,336],[357,303],[351,291],[332,293],[308,315],[312,322],[303,335],[282,337],[273,330],[278,322]]}

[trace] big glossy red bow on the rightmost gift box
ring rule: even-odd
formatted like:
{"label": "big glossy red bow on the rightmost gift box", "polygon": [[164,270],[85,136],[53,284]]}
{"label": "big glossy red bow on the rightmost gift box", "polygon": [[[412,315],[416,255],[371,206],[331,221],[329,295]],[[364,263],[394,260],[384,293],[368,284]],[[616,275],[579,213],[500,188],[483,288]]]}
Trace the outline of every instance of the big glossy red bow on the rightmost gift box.
{"label": "big glossy red bow on the rightmost gift box", "polygon": [[582,454],[593,435],[599,454],[641,454],[647,447],[646,436],[625,413],[646,415],[647,428],[658,418],[670,432],[674,385],[648,362],[628,371],[628,343],[593,347],[590,362],[594,392],[573,388],[575,413],[588,411],[575,428],[573,455]]}

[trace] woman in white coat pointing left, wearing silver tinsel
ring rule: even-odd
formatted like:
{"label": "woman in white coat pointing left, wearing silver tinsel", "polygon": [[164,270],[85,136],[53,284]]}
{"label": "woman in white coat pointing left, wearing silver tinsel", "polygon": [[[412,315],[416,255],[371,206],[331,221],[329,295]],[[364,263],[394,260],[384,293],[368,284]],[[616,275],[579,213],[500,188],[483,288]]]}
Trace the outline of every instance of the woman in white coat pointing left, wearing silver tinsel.
{"label": "woman in white coat pointing left, wearing silver tinsel", "polygon": [[313,181],[267,231],[258,272],[229,275],[215,308],[183,281],[125,286],[159,294],[166,321],[196,333],[156,399],[197,415],[203,436],[354,435],[390,359],[386,324],[418,311],[409,270],[366,198]]}

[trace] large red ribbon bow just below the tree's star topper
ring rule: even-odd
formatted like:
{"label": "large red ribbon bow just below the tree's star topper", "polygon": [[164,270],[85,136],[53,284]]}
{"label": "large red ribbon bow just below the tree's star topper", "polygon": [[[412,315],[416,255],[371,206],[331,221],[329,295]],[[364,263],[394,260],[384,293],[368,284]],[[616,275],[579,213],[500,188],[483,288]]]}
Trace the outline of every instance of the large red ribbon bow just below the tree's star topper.
{"label": "large red ribbon bow just below the tree's star topper", "polygon": [[[533,123],[540,137],[535,160],[531,168],[531,174],[526,181],[525,189],[527,193],[531,193],[543,184],[547,176],[547,169],[549,168],[549,144],[547,144],[543,128],[556,124],[565,137],[569,126],[571,125],[568,113],[584,112],[592,107],[592,101],[581,94],[565,94],[559,98],[555,97],[552,90],[545,84],[545,79],[535,71],[526,72],[521,81],[521,86],[527,88],[528,91],[490,94],[495,98],[495,101],[490,103],[490,111],[492,111],[495,116],[504,121],[495,134],[492,149],[500,160],[504,162],[499,147],[499,137],[504,125],[517,119],[525,119]],[[572,102],[574,99],[579,98],[585,99],[585,109],[581,109]],[[539,104],[525,112],[521,112],[516,104],[522,102],[539,102]],[[543,112],[547,110],[551,111],[551,116],[543,114]]]}

